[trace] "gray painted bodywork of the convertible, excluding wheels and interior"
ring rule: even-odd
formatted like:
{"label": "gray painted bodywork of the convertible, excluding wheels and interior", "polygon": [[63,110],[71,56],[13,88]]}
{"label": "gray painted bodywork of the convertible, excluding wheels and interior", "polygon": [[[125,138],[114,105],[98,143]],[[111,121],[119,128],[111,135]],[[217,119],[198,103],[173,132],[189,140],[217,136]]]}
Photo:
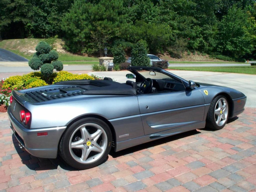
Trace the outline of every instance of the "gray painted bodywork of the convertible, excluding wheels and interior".
{"label": "gray painted bodywork of the convertible, excluding wheels and interior", "polygon": [[[188,81],[167,71],[158,71],[181,80],[188,87]],[[27,91],[58,86],[61,85],[12,92],[17,108],[24,106],[32,114],[28,129],[16,120],[18,117],[14,114],[15,102],[8,107],[14,131],[22,137],[25,148],[34,156],[56,158],[58,142],[65,128],[80,118],[93,116],[107,122],[113,130],[115,150],[119,151],[180,132],[204,128],[210,103],[219,94],[230,99],[230,107],[234,110],[231,116],[241,113],[246,102],[246,96],[239,91],[204,84],[179,92],[136,96],[79,95],[36,104],[24,96]],[[44,130],[49,130],[50,134],[40,138],[34,134]],[[38,144],[33,145],[36,142]]]}

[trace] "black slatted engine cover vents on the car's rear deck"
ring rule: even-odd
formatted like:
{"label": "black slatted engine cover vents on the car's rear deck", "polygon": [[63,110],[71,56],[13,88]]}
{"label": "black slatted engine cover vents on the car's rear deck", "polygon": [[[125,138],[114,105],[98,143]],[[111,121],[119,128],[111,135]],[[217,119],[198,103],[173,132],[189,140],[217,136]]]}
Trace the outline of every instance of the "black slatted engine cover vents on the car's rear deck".
{"label": "black slatted engine cover vents on the car's rear deck", "polygon": [[26,92],[26,95],[35,102],[44,102],[59,98],[81,95],[86,90],[77,86],[67,86],[60,88],[44,89],[33,92]]}

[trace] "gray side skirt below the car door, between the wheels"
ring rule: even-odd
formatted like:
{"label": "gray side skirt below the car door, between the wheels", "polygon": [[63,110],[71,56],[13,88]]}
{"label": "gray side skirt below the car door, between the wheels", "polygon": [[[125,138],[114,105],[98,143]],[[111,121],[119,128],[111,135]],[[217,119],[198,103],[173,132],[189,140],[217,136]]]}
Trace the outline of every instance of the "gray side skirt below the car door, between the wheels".
{"label": "gray side skirt below the car door, between the wheels", "polygon": [[172,135],[179,134],[182,132],[187,132],[187,131],[191,131],[191,130],[195,130],[195,129],[201,129],[201,128],[205,127],[205,124],[206,124],[206,122],[202,121],[202,122],[195,123],[195,124],[188,125],[188,126],[173,128],[170,130],[166,130],[166,131],[162,131],[162,132],[158,132],[158,133],[154,133],[154,134],[149,134],[146,136],[137,137],[137,138],[130,139],[130,140],[117,142],[116,146],[115,146],[115,151],[117,152],[117,151],[124,150],[126,148],[130,148],[130,147],[142,144],[142,143],[146,143],[146,142],[150,142],[150,141],[153,141],[156,139],[172,136]]}

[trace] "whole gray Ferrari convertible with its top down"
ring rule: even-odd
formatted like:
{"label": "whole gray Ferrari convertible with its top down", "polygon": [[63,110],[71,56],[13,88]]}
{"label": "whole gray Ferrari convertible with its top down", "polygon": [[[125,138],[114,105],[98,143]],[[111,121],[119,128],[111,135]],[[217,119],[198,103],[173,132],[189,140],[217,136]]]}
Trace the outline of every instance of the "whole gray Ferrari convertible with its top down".
{"label": "whole gray Ferrari convertible with its top down", "polygon": [[186,81],[166,70],[129,67],[126,83],[72,80],[12,91],[8,115],[20,147],[70,166],[98,166],[120,151],[189,130],[219,130],[244,111],[232,88]]}

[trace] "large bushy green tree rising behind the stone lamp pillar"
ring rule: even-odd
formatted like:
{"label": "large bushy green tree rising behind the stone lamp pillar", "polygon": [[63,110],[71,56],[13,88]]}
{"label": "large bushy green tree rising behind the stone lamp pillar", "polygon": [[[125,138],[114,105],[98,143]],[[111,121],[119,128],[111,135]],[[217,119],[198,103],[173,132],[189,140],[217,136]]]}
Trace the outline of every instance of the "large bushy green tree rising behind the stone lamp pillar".
{"label": "large bushy green tree rising behind the stone lamp pillar", "polygon": [[122,10],[120,0],[75,0],[62,24],[68,50],[101,55],[102,49],[125,31],[127,23]]}

